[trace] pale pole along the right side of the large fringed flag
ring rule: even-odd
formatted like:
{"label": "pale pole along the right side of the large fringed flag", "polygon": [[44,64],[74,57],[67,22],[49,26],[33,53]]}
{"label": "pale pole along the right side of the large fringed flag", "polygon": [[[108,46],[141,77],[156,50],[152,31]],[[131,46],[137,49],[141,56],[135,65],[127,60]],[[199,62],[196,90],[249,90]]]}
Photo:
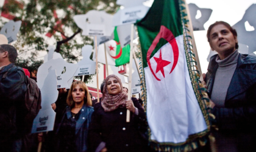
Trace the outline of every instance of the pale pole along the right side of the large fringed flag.
{"label": "pale pole along the right side of the large fringed flag", "polygon": [[186,2],[186,0],[184,0],[185,2],[185,7],[186,7],[186,10],[187,10],[187,15],[188,15],[188,22],[189,22],[189,27],[188,29],[190,29],[190,35],[192,37],[192,46],[193,46],[193,52],[194,52],[194,55],[196,55],[196,62],[197,62],[197,67],[198,67],[198,71],[200,72],[200,75],[202,75],[202,70],[201,70],[201,65],[200,65],[200,61],[199,61],[199,57],[198,57],[198,54],[197,54],[197,49],[196,49],[196,42],[194,41],[194,30],[193,30],[193,26],[192,26],[192,20],[190,18],[190,9],[188,8],[188,4]]}

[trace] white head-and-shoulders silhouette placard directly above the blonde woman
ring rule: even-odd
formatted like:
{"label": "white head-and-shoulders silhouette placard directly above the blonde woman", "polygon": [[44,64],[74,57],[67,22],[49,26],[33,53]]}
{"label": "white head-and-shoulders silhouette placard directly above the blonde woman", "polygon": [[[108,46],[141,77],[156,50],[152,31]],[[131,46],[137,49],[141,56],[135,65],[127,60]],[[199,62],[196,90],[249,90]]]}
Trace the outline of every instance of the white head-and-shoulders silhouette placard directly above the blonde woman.
{"label": "white head-and-shoulders silhouette placard directly above the blonde woman", "polygon": [[82,47],[82,56],[84,57],[79,63],[74,76],[95,74],[96,62],[90,60],[91,50],[93,46],[86,45]]}

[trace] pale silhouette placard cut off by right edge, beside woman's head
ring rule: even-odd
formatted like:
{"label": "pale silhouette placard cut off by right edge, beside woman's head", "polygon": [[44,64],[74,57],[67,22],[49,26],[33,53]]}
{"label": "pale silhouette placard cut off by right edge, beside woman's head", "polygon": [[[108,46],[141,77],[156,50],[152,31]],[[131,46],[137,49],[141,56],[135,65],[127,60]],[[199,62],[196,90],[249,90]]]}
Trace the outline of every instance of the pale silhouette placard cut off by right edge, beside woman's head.
{"label": "pale silhouette placard cut off by right edge, beside woman's head", "polygon": [[[238,42],[248,46],[248,54],[252,54],[254,51],[256,51],[256,19],[254,15],[256,15],[256,4],[252,4],[244,13],[241,21],[238,21],[233,26],[233,28],[236,29],[237,32]],[[250,26],[253,26],[254,30],[247,31],[245,26],[246,23],[249,23]]]}

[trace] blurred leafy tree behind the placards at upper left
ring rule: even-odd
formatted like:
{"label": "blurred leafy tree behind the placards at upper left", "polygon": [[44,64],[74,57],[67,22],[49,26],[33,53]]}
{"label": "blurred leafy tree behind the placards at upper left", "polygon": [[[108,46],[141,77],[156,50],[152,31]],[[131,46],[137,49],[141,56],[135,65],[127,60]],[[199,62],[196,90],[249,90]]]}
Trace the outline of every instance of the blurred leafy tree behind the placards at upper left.
{"label": "blurred leafy tree behind the placards at upper left", "polygon": [[[93,39],[81,35],[81,29],[77,27],[73,16],[85,14],[89,10],[115,13],[117,9],[116,0],[8,0],[2,12],[15,15],[14,21],[22,21],[15,47],[20,53],[34,50],[30,58],[19,60],[33,65],[31,59],[35,59],[37,52],[46,50],[52,42],[56,46],[55,51],[62,54],[66,61],[78,61],[80,53],[77,50],[85,44],[93,46]],[[4,24],[0,19],[0,28]]]}

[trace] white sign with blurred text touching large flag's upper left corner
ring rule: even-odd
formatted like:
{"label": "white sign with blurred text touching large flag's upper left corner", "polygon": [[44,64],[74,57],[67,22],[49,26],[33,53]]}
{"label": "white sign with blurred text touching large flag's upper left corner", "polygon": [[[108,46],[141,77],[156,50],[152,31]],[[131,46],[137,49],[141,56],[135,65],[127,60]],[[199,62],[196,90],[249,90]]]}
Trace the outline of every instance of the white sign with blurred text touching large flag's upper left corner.
{"label": "white sign with blurred text touching large flag's upper left corner", "polygon": [[148,13],[149,7],[139,5],[119,10],[115,13],[112,26],[121,26],[125,24],[133,24],[137,20],[144,18]]}

